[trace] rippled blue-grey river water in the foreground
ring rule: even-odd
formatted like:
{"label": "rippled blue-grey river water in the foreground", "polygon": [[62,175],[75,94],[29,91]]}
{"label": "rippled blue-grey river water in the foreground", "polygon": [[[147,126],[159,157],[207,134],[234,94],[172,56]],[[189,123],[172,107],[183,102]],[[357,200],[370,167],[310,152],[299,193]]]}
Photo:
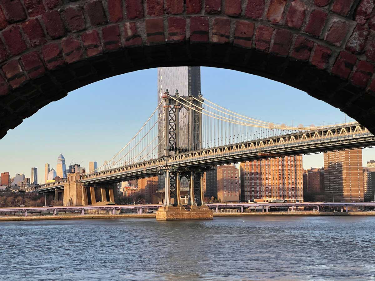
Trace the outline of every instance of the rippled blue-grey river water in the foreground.
{"label": "rippled blue-grey river water in the foreground", "polygon": [[375,217],[1,222],[0,280],[375,280]]}

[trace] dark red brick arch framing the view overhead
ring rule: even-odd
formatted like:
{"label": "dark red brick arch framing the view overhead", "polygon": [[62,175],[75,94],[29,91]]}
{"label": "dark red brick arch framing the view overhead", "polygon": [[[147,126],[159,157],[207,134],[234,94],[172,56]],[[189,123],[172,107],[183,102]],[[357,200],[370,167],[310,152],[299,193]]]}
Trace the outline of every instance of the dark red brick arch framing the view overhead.
{"label": "dark red brick arch framing the view overhead", "polygon": [[373,0],[1,0],[0,138],[91,82],[184,65],[283,82],[375,133],[374,14]]}

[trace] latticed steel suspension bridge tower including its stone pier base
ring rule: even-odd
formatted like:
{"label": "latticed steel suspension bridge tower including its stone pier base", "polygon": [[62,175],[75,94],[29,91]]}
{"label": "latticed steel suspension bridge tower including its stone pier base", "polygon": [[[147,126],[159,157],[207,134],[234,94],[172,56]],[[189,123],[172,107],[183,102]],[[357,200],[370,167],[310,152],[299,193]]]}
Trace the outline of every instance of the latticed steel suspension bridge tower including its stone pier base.
{"label": "latticed steel suspension bridge tower including its stone pier base", "polygon": [[[174,95],[168,89],[162,95],[164,134],[163,157],[181,152],[195,151],[202,148],[202,95]],[[206,169],[174,168],[162,169],[164,183],[164,205],[156,212],[157,220],[213,219],[213,213],[205,206],[203,194],[203,173]],[[181,179],[189,182],[188,209],[180,202]]]}

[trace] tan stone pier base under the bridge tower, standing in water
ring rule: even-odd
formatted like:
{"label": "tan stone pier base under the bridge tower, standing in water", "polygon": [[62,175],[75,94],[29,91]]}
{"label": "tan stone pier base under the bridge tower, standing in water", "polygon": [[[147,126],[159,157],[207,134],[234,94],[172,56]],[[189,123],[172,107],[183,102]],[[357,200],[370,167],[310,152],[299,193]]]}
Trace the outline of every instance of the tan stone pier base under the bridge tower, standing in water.
{"label": "tan stone pier base under the bridge tower, standing in water", "polygon": [[191,211],[183,207],[163,206],[156,211],[156,220],[213,220],[213,212],[207,206],[195,206]]}

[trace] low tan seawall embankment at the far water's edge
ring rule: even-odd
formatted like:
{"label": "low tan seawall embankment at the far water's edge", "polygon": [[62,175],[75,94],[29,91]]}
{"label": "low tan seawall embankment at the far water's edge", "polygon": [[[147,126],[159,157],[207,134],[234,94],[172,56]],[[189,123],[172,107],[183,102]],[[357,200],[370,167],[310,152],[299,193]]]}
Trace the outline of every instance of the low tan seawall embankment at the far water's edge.
{"label": "low tan seawall embankment at the far water's edge", "polygon": [[[217,212],[214,217],[269,217],[269,216],[368,216],[375,212]],[[156,214],[117,214],[117,215],[55,215],[55,216],[28,216],[28,217],[0,217],[1,221],[38,221],[38,220],[89,220],[89,219],[113,219],[113,218],[156,218]]]}

